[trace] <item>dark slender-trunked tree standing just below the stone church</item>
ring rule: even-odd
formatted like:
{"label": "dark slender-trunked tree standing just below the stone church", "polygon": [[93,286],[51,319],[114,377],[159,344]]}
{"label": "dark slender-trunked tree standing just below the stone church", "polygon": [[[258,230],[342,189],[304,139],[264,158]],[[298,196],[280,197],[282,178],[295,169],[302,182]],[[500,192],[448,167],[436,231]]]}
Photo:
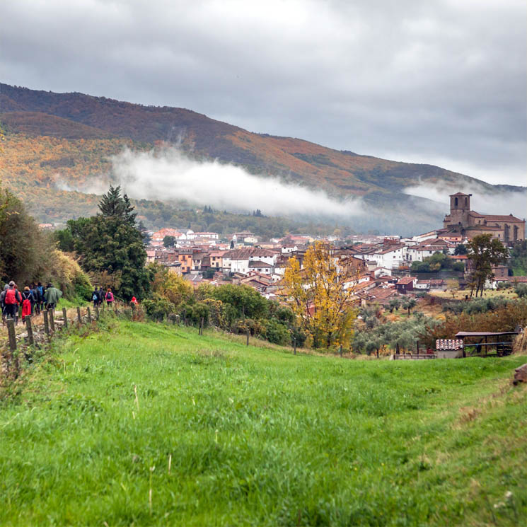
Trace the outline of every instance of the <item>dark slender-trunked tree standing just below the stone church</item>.
{"label": "dark slender-trunked tree standing just below the stone church", "polygon": [[[467,257],[473,265],[473,284],[476,289],[476,296],[480,292],[483,296],[485,282],[494,277],[492,266],[501,263],[508,255],[509,251],[503,243],[496,238],[492,239],[492,234],[478,234],[468,242]],[[470,291],[472,296],[474,289]]]}

